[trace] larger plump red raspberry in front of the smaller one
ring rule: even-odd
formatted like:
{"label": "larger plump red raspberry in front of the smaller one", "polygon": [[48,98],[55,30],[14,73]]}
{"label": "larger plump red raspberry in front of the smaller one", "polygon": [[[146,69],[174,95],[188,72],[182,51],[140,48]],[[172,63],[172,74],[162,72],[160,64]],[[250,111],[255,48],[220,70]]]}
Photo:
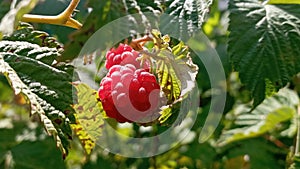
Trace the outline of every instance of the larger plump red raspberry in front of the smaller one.
{"label": "larger plump red raspberry in front of the smaller one", "polygon": [[159,89],[155,76],[145,69],[114,65],[102,79],[98,95],[108,117],[147,123],[159,115]]}

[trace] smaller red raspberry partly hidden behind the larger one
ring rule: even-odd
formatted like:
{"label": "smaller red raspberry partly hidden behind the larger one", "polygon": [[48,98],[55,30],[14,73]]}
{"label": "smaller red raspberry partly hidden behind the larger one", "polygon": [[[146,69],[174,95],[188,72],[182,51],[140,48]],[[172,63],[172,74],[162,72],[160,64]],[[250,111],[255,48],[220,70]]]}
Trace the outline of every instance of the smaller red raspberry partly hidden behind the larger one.
{"label": "smaller red raspberry partly hidden behind the larger one", "polygon": [[[105,67],[110,69],[114,65],[132,64],[136,68],[141,68],[141,63],[136,59],[139,57],[139,52],[132,49],[129,45],[120,44],[118,48],[112,48],[106,53]],[[142,68],[149,70],[148,62],[144,63]]]}

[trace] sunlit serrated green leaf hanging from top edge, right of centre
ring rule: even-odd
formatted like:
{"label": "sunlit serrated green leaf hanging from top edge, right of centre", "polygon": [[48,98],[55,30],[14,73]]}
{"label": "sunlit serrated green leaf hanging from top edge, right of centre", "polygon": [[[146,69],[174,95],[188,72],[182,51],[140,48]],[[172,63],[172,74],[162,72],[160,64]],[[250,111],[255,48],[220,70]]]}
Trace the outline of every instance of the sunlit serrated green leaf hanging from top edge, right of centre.
{"label": "sunlit serrated green leaf hanging from top edge, right of centre", "polygon": [[[201,29],[212,0],[167,0],[165,1],[165,13],[172,16],[161,21],[162,32],[175,32],[178,37],[186,38]],[[171,33],[170,33],[171,34]]]}

